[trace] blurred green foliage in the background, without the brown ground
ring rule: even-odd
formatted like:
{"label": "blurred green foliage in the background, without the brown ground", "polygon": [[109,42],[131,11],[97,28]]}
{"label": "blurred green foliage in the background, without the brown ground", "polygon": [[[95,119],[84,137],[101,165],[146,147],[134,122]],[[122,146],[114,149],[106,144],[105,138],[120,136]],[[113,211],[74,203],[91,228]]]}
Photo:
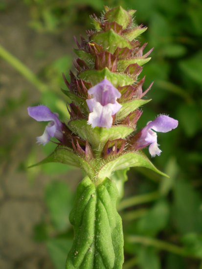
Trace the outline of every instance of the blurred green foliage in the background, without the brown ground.
{"label": "blurred green foliage in the background, without the brown ground", "polygon": [[[125,233],[123,268],[202,269],[202,1],[23,0],[23,3],[31,14],[30,26],[39,32],[58,34],[73,25],[82,25],[82,29],[91,27],[88,15],[99,15],[104,4],[136,9],[136,21],[148,25],[141,42],[148,42],[147,50],[153,46],[155,50],[143,75],[146,75],[145,87],[152,81],[155,84],[147,96],[153,101],[144,106],[137,128],[164,112],[178,119],[179,127],[168,134],[158,134],[162,154],[153,159],[170,179],[143,169],[128,172],[122,201],[125,206],[120,210]],[[2,1],[0,9],[5,8],[6,2]],[[58,111],[63,119],[67,119],[67,99],[59,93],[59,88],[64,87],[61,72],[69,69],[71,60],[71,55],[64,55],[40,73],[40,78],[51,86],[51,90],[42,93],[41,103]],[[21,106],[24,98],[26,95],[19,100],[7,100],[7,107],[0,110],[0,115]],[[51,152],[51,147],[54,145],[43,149],[45,155]],[[8,145],[3,145],[0,157],[8,150]],[[27,162],[31,164],[34,160],[33,150]],[[27,173],[34,179],[41,171],[57,176],[58,171],[68,173],[69,169],[62,164],[47,164]],[[120,175],[126,178],[126,171],[114,177]],[[135,196],[134,204],[128,195]],[[65,182],[57,180],[46,186],[44,201],[47,213],[35,227],[34,239],[45,242],[55,268],[61,269],[73,236],[67,218],[73,195]]]}

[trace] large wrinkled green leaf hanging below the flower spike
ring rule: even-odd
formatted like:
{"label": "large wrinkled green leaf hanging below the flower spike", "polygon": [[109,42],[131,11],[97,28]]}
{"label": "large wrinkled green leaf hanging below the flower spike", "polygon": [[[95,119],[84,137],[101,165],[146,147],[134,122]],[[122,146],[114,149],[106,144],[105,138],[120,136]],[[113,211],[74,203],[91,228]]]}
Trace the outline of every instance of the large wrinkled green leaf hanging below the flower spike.
{"label": "large wrinkled green leaf hanging below the flower spike", "polygon": [[117,188],[110,179],[98,186],[88,177],[79,183],[69,216],[74,240],[66,269],[122,269],[123,231],[116,210],[117,197]]}

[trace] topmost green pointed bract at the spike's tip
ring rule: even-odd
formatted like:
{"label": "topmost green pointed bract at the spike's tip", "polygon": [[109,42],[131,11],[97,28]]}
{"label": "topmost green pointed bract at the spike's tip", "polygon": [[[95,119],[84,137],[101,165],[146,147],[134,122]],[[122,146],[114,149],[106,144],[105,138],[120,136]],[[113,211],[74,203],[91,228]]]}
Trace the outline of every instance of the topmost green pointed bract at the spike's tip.
{"label": "topmost green pointed bract at the spike's tip", "polygon": [[131,14],[123,9],[121,6],[109,10],[105,14],[105,18],[108,22],[117,22],[123,26],[123,29],[127,28],[132,22]]}

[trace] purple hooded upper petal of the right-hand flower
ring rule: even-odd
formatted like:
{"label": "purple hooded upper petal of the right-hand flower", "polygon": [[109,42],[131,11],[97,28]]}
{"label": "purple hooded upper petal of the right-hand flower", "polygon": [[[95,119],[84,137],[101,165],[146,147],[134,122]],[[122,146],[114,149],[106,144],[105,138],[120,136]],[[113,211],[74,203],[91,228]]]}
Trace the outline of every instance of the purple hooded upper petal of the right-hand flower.
{"label": "purple hooded upper petal of the right-hand flower", "polygon": [[178,120],[166,115],[160,115],[148,124],[156,132],[167,133],[178,127]]}

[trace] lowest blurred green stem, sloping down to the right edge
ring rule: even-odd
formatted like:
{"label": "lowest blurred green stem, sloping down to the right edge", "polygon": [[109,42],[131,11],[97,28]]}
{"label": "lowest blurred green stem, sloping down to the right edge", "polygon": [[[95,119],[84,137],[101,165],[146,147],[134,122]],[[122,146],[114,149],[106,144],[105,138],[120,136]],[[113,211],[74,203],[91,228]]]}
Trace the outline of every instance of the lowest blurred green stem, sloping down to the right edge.
{"label": "lowest blurred green stem, sloping down to the right edge", "polygon": [[144,237],[144,236],[128,236],[125,239],[128,243],[142,244],[144,246],[157,247],[180,256],[187,256],[192,258],[199,258],[197,256],[189,254],[184,248],[175,246],[173,244],[157,240],[154,238]]}

